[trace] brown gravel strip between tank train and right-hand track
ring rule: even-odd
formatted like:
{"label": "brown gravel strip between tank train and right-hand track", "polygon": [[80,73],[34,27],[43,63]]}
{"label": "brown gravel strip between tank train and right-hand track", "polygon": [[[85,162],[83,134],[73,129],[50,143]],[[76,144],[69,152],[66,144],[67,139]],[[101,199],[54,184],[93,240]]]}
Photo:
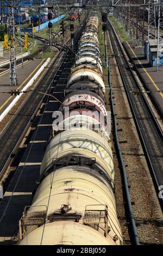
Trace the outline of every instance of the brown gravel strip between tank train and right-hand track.
{"label": "brown gravel strip between tank train and right-hand track", "polygon": [[[118,74],[114,54],[110,48],[109,39],[107,39],[107,44],[111,65],[115,111],[117,114],[118,137],[121,142],[124,164],[126,164],[130,199],[133,205],[140,243],[142,245],[158,245],[163,242],[162,228],[159,227],[160,221],[162,220],[162,212],[130,112],[126,93],[124,92],[123,84]],[[115,153],[115,149],[113,150]],[[127,212],[125,213],[126,201],[123,197],[123,182],[121,181],[116,153],[114,154],[114,164],[116,172],[117,212],[124,235],[124,242],[128,245],[132,242],[132,239],[130,237],[130,224],[127,220]]]}

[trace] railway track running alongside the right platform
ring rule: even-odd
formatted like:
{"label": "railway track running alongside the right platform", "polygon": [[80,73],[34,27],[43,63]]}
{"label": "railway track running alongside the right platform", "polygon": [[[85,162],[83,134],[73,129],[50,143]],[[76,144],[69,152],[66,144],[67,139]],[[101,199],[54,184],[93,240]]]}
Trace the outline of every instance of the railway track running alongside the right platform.
{"label": "railway track running alongside the right platform", "polygon": [[[162,131],[155,119],[151,107],[137,82],[133,70],[123,52],[120,40],[114,28],[108,21],[108,35],[110,36],[116,62],[120,71],[121,79],[126,90],[131,112],[139,132],[142,148],[144,150],[148,167],[151,170],[155,189],[159,198],[159,187],[163,184],[163,141]],[[138,92],[138,93],[135,93]],[[162,199],[159,198],[162,207]]]}

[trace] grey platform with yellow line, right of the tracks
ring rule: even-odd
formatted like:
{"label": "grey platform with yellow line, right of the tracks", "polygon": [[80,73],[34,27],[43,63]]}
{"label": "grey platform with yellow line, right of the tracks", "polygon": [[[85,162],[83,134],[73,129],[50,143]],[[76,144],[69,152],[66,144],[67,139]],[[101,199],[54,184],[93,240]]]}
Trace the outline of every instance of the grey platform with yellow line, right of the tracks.
{"label": "grey platform with yellow line, right of the tracks", "polygon": [[145,54],[142,53],[141,47],[134,48],[135,44],[131,42],[124,42],[123,46],[130,59],[133,60],[140,79],[146,85],[147,90],[151,92],[155,106],[163,116],[163,66],[160,66],[161,70],[156,72],[156,68],[149,64]]}

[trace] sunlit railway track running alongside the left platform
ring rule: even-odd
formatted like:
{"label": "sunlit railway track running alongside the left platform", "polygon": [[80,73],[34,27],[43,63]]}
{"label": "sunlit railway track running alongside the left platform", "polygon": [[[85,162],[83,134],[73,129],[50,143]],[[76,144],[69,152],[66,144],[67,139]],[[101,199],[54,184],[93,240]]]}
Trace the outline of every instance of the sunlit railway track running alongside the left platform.
{"label": "sunlit railway track running alongside the left platform", "polygon": [[[83,26],[85,24],[85,21],[86,17],[83,20]],[[77,29],[74,40],[77,40],[79,35],[82,33],[83,26]],[[67,46],[70,47],[70,45],[71,39],[67,42]],[[43,94],[36,93],[35,91],[31,92],[28,95],[27,100],[18,109],[17,113],[14,115],[9,125],[1,134],[0,182],[10,162],[11,156],[15,153],[16,149],[20,145],[24,135],[26,134],[31,124],[34,115],[41,106],[41,103],[45,98],[45,93],[52,93],[51,86],[54,86],[54,78],[55,83],[57,82],[57,80],[59,80],[63,66],[66,63],[65,58],[68,53],[71,53],[71,51],[63,51],[63,49],[59,51],[59,53],[51,63],[48,71],[42,77],[41,82],[39,82],[35,88],[35,90]]]}

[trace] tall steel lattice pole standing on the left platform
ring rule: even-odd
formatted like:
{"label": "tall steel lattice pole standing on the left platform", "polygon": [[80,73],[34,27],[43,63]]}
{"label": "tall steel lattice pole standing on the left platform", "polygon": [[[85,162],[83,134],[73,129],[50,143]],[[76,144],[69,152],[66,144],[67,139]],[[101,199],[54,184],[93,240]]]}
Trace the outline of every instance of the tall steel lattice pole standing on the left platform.
{"label": "tall steel lattice pole standing on the left platform", "polygon": [[14,0],[8,4],[9,17],[8,17],[8,36],[10,47],[10,86],[17,85],[17,72],[16,72],[16,50],[15,50],[15,20],[14,20]]}

